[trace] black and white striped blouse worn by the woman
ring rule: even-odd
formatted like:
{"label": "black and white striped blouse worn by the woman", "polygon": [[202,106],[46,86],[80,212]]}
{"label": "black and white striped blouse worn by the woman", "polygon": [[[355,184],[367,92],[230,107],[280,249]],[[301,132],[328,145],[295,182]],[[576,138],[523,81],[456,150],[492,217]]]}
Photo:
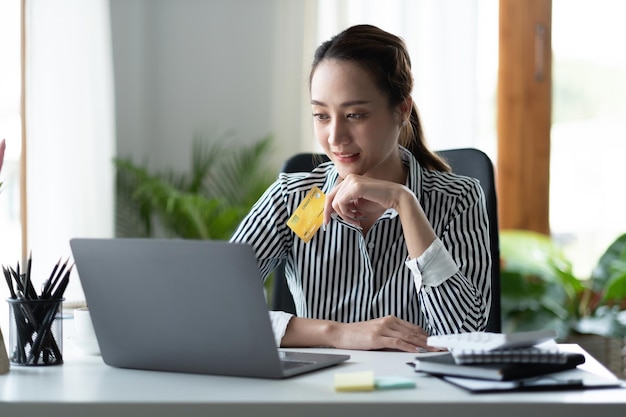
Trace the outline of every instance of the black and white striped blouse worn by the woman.
{"label": "black and white striped blouse worn by the woman", "polygon": [[[420,258],[407,261],[393,209],[365,236],[340,218],[308,243],[291,231],[287,220],[307,192],[318,186],[328,193],[335,184],[338,174],[330,162],[310,173],[280,174],[231,240],[253,245],[263,277],[286,260],[299,317],[355,322],[395,315],[429,334],[483,330],[491,258],[482,188],[472,178],[423,169],[402,151],[409,168],[406,185],[438,236]],[[272,322],[278,343],[288,319]]]}

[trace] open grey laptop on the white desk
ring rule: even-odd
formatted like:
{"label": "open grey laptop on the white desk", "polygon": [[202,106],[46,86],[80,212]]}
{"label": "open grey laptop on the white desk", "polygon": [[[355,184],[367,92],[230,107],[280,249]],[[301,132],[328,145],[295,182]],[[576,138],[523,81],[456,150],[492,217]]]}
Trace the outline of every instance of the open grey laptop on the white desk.
{"label": "open grey laptop on the white desk", "polygon": [[70,246],[107,365],[285,378],[350,358],[276,348],[249,245],[75,238]]}

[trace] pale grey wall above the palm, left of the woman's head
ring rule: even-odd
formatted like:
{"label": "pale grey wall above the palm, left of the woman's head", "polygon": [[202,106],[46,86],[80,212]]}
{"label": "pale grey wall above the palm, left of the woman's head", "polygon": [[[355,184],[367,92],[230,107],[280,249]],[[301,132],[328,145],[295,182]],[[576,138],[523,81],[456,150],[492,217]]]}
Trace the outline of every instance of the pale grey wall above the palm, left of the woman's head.
{"label": "pale grey wall above the palm, left of the woman's head", "polygon": [[290,16],[306,5],[111,0],[117,154],[184,168],[196,133],[271,134],[276,166],[301,150],[305,34]]}

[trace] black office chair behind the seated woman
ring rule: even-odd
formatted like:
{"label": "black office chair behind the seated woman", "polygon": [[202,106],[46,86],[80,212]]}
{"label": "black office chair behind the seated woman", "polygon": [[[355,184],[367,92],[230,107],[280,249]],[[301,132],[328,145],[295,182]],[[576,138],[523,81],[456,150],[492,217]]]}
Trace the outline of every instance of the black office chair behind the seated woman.
{"label": "black office chair behind the seated woman", "polygon": [[[486,331],[499,333],[502,330],[500,313],[500,239],[498,229],[498,203],[493,163],[482,151],[473,148],[449,149],[437,152],[450,166],[452,172],[476,178],[485,193],[487,216],[489,218],[489,238],[491,242],[491,313]],[[322,162],[328,161],[324,154],[300,153],[283,164],[281,172],[308,172]],[[284,265],[274,271],[272,309],[295,314],[295,305],[284,275]]]}

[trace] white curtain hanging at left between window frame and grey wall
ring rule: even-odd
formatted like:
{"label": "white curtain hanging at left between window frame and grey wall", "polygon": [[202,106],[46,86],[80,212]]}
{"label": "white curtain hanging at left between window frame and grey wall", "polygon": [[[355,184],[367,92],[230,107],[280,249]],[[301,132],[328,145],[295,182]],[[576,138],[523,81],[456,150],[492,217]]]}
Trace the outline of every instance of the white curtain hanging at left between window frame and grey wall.
{"label": "white curtain hanging at left between window frame and grey wall", "polygon": [[[70,238],[114,233],[108,0],[27,0],[25,29],[27,241],[43,282]],[[65,298],[83,300],[75,271]]]}

